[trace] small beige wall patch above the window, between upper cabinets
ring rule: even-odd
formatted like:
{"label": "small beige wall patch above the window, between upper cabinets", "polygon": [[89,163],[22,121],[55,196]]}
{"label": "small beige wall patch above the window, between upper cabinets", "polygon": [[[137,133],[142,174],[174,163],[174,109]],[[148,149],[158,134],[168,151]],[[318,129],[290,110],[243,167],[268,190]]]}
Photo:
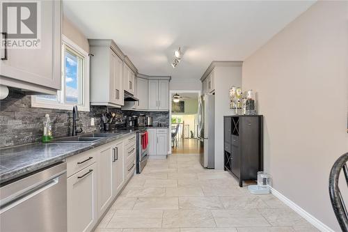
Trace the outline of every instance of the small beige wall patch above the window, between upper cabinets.
{"label": "small beige wall patch above the window, between upper cabinets", "polygon": [[76,43],[84,49],[86,52],[89,52],[89,45],[86,36],[84,36],[81,31],[68,20],[67,17],[63,17],[63,35],[68,37],[72,42]]}

